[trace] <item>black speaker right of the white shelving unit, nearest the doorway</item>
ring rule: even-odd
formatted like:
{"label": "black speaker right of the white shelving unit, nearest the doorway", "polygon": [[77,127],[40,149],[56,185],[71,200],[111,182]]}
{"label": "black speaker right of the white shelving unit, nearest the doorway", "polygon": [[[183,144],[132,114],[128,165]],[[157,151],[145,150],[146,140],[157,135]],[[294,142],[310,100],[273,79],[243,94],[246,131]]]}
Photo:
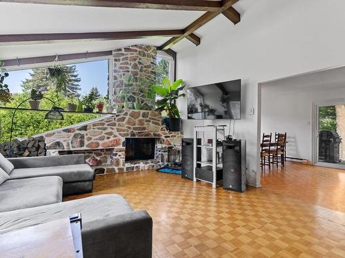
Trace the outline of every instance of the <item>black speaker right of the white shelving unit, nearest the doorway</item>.
{"label": "black speaker right of the white shelving unit, nearest the doorway", "polygon": [[223,188],[246,191],[246,141],[223,141]]}

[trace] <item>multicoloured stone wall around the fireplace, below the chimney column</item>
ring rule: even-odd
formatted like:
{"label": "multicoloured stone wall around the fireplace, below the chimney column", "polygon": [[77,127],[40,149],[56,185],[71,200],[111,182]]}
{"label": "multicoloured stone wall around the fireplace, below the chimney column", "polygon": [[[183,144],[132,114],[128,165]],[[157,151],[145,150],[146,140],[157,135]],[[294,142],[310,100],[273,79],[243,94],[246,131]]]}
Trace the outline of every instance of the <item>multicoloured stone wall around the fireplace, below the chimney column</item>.
{"label": "multicoloured stone wall around the fireplace, below the chimney column", "polygon": [[[48,154],[86,153],[86,161],[109,164],[103,173],[153,169],[167,162],[168,147],[182,133],[169,132],[156,111],[123,109],[97,121],[43,133]],[[157,138],[155,160],[125,162],[126,137]],[[71,152],[72,151],[72,152]]]}

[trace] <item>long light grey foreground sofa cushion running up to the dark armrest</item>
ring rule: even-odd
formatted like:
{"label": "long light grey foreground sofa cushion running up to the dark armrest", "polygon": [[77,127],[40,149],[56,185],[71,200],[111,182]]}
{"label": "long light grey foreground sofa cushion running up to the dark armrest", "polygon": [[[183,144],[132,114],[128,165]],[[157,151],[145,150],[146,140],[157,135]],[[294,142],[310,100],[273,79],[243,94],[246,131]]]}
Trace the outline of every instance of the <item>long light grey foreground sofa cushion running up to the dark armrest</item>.
{"label": "long light grey foreground sofa cushion running up to the dark armrest", "polygon": [[75,213],[81,213],[82,223],[87,223],[132,211],[132,207],[121,195],[95,195],[79,200],[1,213],[0,233],[66,218]]}

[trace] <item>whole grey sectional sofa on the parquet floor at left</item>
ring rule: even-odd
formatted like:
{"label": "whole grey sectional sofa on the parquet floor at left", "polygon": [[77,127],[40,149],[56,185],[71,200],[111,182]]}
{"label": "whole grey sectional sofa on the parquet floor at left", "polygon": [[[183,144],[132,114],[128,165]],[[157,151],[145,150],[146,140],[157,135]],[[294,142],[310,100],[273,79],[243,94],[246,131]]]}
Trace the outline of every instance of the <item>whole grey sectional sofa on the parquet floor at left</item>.
{"label": "whole grey sectional sofa on the parquet floor at left", "polygon": [[62,202],[63,194],[92,191],[95,175],[81,158],[0,154],[0,234],[81,213],[83,257],[152,257],[152,218],[120,195]]}

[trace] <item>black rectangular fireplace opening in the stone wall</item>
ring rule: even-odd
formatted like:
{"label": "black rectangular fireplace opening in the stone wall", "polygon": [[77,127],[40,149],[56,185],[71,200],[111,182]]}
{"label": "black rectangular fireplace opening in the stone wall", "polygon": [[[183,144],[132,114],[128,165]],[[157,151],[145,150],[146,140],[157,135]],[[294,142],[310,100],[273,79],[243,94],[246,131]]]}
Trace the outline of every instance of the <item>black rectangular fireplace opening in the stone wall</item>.
{"label": "black rectangular fireplace opening in the stone wall", "polygon": [[155,138],[126,138],[125,160],[153,160]]}

